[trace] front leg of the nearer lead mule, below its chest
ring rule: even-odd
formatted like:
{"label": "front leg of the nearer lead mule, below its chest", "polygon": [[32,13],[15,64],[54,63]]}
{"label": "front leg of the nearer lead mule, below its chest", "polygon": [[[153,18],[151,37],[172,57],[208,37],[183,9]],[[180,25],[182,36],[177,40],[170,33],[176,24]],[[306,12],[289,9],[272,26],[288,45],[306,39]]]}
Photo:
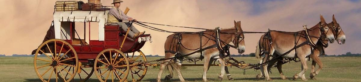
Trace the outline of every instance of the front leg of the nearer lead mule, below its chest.
{"label": "front leg of the nearer lead mule, below its chest", "polygon": [[[294,76],[293,76],[293,79],[297,79],[297,78],[299,78],[300,76],[302,77],[303,76],[303,74],[306,72],[306,70],[308,69],[307,68],[307,62],[306,62],[306,57],[305,57],[305,55],[301,55],[301,54],[298,54],[297,55],[298,57],[299,57],[299,59],[300,59],[300,61],[301,61],[301,64],[302,64],[302,66],[301,66],[301,72],[300,73],[298,73],[298,74],[295,74]],[[307,79],[306,78],[302,78],[302,81],[307,81]]]}

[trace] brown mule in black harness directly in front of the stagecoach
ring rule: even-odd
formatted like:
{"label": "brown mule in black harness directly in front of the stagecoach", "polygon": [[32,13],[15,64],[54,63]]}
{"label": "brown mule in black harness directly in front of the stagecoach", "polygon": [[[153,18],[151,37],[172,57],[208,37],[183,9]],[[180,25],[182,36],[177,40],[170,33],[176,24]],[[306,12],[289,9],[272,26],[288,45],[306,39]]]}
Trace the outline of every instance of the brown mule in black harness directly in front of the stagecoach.
{"label": "brown mule in black harness directly in front of the stagecoach", "polygon": [[[184,78],[181,74],[181,70],[179,67],[182,65],[183,58],[186,59],[200,59],[202,58],[201,54],[204,56],[204,67],[203,67],[203,81],[207,81],[206,73],[208,70],[209,60],[213,57],[217,57],[219,55],[219,48],[224,47],[227,44],[235,44],[234,48],[238,49],[238,53],[244,52],[244,35],[241,28],[240,22],[235,22],[235,28],[229,29],[221,29],[219,30],[219,41],[217,41],[217,32],[216,30],[207,30],[197,33],[174,33],[167,37],[165,41],[165,59],[173,58],[178,56],[176,59],[168,59],[164,60],[160,65],[160,70],[157,76],[157,82],[161,82],[161,75],[163,70],[166,68],[172,71],[174,68],[178,73],[178,77],[181,82],[184,82]],[[200,37],[200,34],[203,35]],[[200,40],[201,38],[201,40]],[[175,45],[178,44],[178,45]],[[219,45],[218,47],[212,47],[206,49],[209,46]],[[200,47],[201,46],[201,47]],[[206,50],[202,50],[206,49]],[[172,53],[173,52],[173,53]],[[195,53],[193,53],[195,52]],[[222,80],[224,75],[225,63],[221,60],[221,74],[218,76],[219,79]],[[171,72],[170,72],[171,73]],[[172,74],[171,74],[172,75]]]}

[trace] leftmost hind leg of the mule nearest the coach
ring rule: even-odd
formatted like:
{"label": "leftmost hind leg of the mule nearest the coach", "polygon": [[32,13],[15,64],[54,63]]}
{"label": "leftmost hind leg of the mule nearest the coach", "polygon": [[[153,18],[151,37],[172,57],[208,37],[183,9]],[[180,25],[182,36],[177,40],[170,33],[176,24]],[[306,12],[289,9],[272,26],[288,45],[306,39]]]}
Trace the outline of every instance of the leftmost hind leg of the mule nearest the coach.
{"label": "leftmost hind leg of the mule nearest the coach", "polygon": [[[174,57],[174,54],[165,53],[165,57],[164,57],[165,59],[166,59],[166,58],[171,58],[171,57]],[[170,60],[171,60],[171,59],[169,59],[169,60],[164,60],[163,63],[160,64],[160,68],[159,68],[159,72],[158,72],[158,76],[157,76],[157,82],[161,82],[160,79],[161,79],[163,70],[164,70],[164,68],[168,65],[168,63],[169,63]]]}

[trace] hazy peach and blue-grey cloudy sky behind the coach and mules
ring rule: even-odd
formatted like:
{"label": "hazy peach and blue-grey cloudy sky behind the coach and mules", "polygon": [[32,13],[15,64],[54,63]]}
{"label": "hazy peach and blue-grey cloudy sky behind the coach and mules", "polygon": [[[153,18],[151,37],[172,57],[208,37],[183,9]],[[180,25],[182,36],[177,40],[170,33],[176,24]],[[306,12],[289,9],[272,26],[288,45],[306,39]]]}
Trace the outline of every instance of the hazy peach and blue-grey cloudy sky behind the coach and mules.
{"label": "hazy peach and blue-grey cloudy sky behind the coach and mules", "polygon": [[[87,0],[83,0],[85,3]],[[112,6],[113,0],[102,0]],[[343,45],[330,44],[326,54],[361,53],[360,0],[123,0],[121,8],[129,7],[127,15],[142,22],[174,26],[234,27],[241,21],[243,31],[266,32],[268,29],[295,32],[302,25],[314,26],[322,14],[327,23],[335,15],[346,35]],[[42,44],[49,29],[56,0],[0,0],[0,54],[31,54]],[[76,24],[77,25],[77,24]],[[94,24],[93,24],[94,25]],[[164,55],[164,42],[171,33],[157,32],[135,25],[151,34],[153,42],[141,49],[146,55]],[[168,31],[203,31],[199,29],[155,26]],[[92,31],[94,32],[94,31]],[[96,35],[94,33],[92,35]],[[92,36],[91,35],[91,36]],[[254,53],[263,34],[245,34],[245,53]],[[92,36],[97,38],[97,36]],[[231,54],[238,54],[231,49]]]}

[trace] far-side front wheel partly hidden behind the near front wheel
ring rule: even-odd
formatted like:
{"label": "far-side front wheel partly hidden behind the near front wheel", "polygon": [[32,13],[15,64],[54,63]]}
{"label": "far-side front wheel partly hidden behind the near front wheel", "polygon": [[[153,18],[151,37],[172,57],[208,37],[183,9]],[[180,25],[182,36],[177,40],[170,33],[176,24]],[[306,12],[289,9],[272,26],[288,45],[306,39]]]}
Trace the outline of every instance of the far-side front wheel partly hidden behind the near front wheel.
{"label": "far-side front wheel partly hidden behind the near front wheel", "polygon": [[[130,63],[130,75],[127,81],[141,81],[147,73],[148,66],[144,64],[147,61],[142,51],[138,50],[134,53],[127,53]],[[142,63],[143,62],[143,63]]]}

